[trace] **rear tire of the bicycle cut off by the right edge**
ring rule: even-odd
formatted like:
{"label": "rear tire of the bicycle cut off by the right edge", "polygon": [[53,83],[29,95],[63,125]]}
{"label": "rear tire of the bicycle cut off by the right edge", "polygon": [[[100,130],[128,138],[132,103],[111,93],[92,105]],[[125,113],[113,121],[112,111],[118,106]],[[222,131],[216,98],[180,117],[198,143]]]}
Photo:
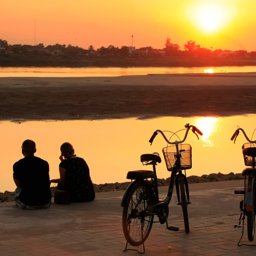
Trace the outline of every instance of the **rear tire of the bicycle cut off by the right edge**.
{"label": "rear tire of the bicycle cut off by the right edge", "polygon": [[[254,240],[254,231],[255,231],[255,180],[253,177],[248,177],[247,185],[251,184],[252,190],[249,191],[252,194],[247,195],[248,191],[246,191],[246,199],[247,196],[252,196],[252,205],[253,208],[250,212],[246,212],[247,215],[247,234],[248,240],[252,242]],[[246,187],[247,187],[246,185]]]}

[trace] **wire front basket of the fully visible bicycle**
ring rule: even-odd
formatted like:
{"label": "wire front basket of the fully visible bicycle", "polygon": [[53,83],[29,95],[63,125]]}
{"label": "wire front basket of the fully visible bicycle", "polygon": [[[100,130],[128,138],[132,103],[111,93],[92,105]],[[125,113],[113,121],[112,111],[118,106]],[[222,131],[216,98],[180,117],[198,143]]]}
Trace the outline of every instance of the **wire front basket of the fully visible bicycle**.
{"label": "wire front basket of the fully visible bicycle", "polygon": [[[192,147],[189,144],[179,144],[178,145],[179,154],[181,154],[181,169],[191,169],[192,168]],[[168,146],[163,148],[164,160],[169,172],[172,171],[173,165],[177,160],[176,145]]]}

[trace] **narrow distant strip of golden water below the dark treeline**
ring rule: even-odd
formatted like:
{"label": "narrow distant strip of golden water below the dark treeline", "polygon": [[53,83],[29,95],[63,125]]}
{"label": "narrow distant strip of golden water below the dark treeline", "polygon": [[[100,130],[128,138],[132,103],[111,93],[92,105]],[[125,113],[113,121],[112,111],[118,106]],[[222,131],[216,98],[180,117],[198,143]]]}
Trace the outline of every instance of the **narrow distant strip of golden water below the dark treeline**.
{"label": "narrow distant strip of golden water below the dark treeline", "polygon": [[0,77],[119,77],[120,75],[256,72],[256,66],[206,66],[203,68],[0,68]]}

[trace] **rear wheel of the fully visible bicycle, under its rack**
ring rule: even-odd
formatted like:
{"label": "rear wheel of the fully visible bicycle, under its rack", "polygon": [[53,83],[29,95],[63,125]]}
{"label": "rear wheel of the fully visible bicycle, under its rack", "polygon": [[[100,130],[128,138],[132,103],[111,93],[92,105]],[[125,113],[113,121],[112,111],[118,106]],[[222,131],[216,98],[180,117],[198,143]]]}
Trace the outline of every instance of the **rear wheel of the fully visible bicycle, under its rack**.
{"label": "rear wheel of the fully visible bicycle, under its rack", "polygon": [[147,215],[152,195],[153,190],[146,181],[136,183],[128,195],[122,225],[125,239],[132,246],[141,245],[149,236],[154,220],[154,215]]}

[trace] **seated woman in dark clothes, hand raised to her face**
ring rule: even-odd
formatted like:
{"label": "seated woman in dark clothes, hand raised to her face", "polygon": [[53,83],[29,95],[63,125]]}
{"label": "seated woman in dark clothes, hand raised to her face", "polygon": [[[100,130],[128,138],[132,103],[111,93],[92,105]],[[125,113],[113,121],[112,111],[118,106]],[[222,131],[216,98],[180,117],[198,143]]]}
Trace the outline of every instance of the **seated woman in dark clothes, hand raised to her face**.
{"label": "seated woman in dark clothes, hand raised to her face", "polygon": [[86,161],[75,155],[73,146],[69,142],[63,143],[60,151],[60,178],[51,179],[50,182],[59,183],[58,190],[69,191],[73,203],[95,199],[95,191]]}

